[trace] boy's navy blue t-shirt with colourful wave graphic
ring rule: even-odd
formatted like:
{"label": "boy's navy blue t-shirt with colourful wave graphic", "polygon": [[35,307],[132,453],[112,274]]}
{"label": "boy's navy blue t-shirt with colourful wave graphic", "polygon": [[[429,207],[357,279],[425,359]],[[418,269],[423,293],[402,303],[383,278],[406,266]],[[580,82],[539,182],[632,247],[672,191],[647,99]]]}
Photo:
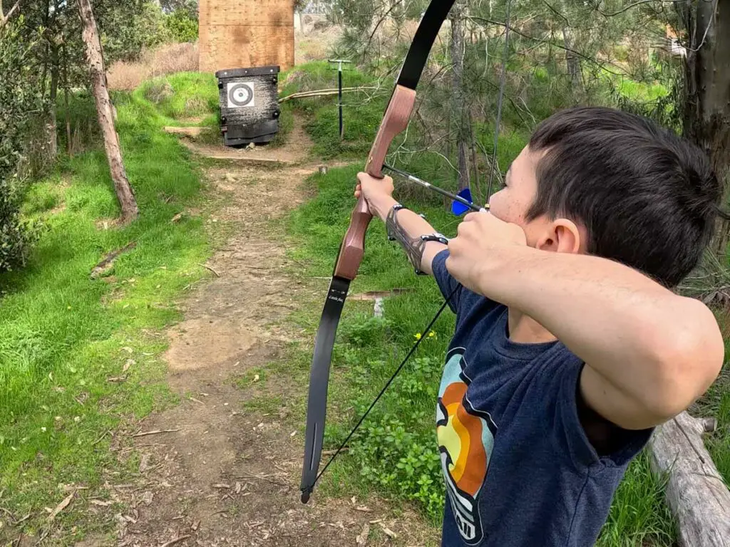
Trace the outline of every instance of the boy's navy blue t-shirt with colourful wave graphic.
{"label": "boy's navy blue t-shirt with colourful wave graphic", "polygon": [[[434,277],[458,282],[445,250]],[[464,287],[437,404],[447,500],[442,546],[593,546],[626,466],[651,430],[599,456],[578,416],[583,361],[559,341],[510,341],[507,307]]]}

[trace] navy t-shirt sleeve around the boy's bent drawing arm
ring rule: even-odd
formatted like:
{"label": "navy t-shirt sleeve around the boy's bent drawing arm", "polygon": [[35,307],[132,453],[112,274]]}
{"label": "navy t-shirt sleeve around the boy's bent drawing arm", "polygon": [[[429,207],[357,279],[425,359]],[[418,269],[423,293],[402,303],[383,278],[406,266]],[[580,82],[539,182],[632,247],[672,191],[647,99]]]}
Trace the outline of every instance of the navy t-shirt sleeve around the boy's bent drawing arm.
{"label": "navy t-shirt sleeve around the boy's bent drawing arm", "polygon": [[577,358],[570,361],[540,375],[552,384],[540,389],[540,392],[547,395],[547,415],[554,420],[555,427],[551,430],[556,450],[568,454],[579,467],[599,462],[603,465],[626,465],[642,450],[653,429],[625,430],[612,425],[610,449],[599,454],[580,421],[579,408],[585,407],[579,391],[580,373],[585,365]]}

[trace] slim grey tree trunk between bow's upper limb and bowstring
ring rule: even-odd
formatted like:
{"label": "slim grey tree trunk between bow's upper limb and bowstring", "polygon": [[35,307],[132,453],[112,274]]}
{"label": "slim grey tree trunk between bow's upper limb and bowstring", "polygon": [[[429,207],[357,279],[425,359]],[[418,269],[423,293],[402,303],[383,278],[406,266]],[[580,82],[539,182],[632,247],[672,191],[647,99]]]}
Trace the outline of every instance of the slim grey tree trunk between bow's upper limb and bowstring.
{"label": "slim grey tree trunk between bow's upper limb and bowstring", "polygon": [[451,62],[453,64],[452,79],[452,115],[456,121],[456,154],[458,158],[458,189],[469,187],[469,161],[466,154],[469,149],[469,124],[467,123],[466,96],[464,94],[464,3],[457,1],[451,10]]}

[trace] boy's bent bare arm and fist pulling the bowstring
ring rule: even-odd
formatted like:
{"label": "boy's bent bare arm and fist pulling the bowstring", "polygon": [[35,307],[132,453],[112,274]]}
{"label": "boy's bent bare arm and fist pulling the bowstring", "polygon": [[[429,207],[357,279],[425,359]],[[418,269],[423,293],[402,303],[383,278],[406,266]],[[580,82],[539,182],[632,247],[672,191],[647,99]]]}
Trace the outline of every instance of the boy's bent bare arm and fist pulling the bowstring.
{"label": "boy's bent bare arm and fist pulling the bowstring", "polygon": [[712,311],[626,265],[527,247],[516,230],[475,213],[449,243],[450,273],[522,311],[586,366],[588,406],[627,429],[661,424],[702,395],[723,365]]}

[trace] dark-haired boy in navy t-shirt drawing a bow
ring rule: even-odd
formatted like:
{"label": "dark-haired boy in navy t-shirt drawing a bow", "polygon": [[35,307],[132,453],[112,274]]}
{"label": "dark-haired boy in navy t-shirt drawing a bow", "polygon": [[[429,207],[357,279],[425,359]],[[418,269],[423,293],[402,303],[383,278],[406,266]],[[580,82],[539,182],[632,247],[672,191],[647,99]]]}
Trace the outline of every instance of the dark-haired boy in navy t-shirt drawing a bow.
{"label": "dark-haired boy in navy t-shirt drawing a bow", "polygon": [[456,314],[442,545],[593,545],[653,427],[723,365],[712,311],[670,290],[725,216],[707,157],[642,117],[575,108],[539,125],[450,241],[392,193],[358,174],[356,197]]}

